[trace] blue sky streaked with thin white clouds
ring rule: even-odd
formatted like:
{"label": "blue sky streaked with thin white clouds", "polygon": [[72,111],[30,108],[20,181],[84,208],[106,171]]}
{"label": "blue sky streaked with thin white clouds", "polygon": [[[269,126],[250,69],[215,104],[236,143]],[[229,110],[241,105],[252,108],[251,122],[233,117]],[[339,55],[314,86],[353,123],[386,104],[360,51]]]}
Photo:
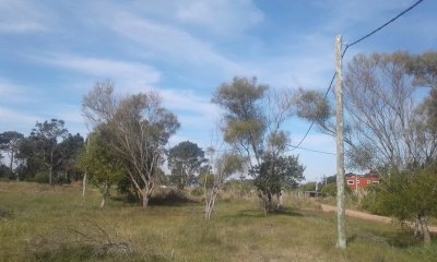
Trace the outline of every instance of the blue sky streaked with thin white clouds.
{"label": "blue sky streaked with thin white clouds", "polygon": [[[90,132],[82,97],[97,81],[119,94],[156,90],[181,123],[168,146],[211,142],[220,119],[214,91],[234,76],[271,88],[326,91],[335,70],[334,41],[345,44],[415,0],[0,0],[0,132],[28,135],[36,121],[62,119]],[[425,0],[351,47],[356,53],[420,53],[437,47],[437,1]],[[293,118],[292,143],[309,127]],[[314,129],[305,148],[335,152]],[[294,150],[307,180],[335,174],[335,156]]]}

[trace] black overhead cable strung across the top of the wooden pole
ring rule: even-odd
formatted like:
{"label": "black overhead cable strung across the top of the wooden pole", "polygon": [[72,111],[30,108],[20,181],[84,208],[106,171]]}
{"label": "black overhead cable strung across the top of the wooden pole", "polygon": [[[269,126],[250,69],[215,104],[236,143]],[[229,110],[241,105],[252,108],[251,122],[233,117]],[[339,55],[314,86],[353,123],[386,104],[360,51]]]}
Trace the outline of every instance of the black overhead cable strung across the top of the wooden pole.
{"label": "black overhead cable strung across the top of the wooden pole", "polygon": [[[404,15],[405,13],[408,13],[409,11],[411,11],[412,9],[414,9],[415,7],[417,7],[420,3],[422,3],[424,0],[418,0],[415,3],[413,3],[411,7],[409,7],[408,9],[405,9],[404,11],[400,12],[397,16],[394,16],[393,19],[389,20],[388,22],[386,22],[385,24],[382,24],[381,26],[377,27],[376,29],[371,31],[370,33],[368,33],[367,35],[354,40],[352,44],[346,45],[346,47],[344,48],[343,52],[342,52],[342,58],[344,57],[344,55],[346,53],[347,49],[356,44],[358,44],[359,41],[370,37],[371,35],[374,35],[375,33],[377,33],[378,31],[381,31],[383,27],[386,27],[387,25],[393,23],[395,20],[398,20],[399,17],[401,17],[402,15]],[[334,82],[336,76],[336,72],[332,75],[331,82],[329,83],[328,90],[324,93],[324,99],[328,97],[329,91],[332,87],[332,83]],[[306,138],[308,136],[309,132],[311,131],[314,124],[315,124],[315,120],[311,121],[311,124],[309,126],[308,130],[305,132],[305,135],[302,138],[302,140],[299,141],[299,143],[297,143],[297,145],[290,145],[293,147],[293,150],[296,148],[302,148],[300,144],[304,143],[304,141],[306,140]],[[292,151],[293,151],[292,150]],[[322,153],[322,152],[320,152]],[[327,152],[324,152],[327,153]],[[331,154],[331,153],[328,153]]]}

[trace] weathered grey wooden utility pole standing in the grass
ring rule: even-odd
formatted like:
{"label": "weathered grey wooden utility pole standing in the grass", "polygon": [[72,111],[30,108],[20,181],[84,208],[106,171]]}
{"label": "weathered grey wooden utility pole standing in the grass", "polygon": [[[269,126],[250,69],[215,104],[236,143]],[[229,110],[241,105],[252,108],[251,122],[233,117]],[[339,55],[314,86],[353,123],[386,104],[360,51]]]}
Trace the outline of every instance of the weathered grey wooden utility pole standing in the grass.
{"label": "weathered grey wooden utility pole standing in the grass", "polygon": [[342,75],[342,36],[335,37],[335,100],[336,100],[336,247],[346,248],[346,227],[344,210],[344,142],[343,142],[343,75]]}

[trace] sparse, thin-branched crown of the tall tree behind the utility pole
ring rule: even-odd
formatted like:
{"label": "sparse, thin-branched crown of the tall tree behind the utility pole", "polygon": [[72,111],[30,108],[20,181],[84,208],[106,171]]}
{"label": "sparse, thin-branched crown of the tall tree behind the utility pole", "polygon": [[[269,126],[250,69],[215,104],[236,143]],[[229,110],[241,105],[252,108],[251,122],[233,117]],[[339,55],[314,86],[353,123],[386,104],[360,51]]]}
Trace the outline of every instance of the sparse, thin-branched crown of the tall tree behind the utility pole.
{"label": "sparse, thin-branched crown of the tall tree behind the utility pole", "polygon": [[[411,168],[436,155],[436,132],[424,127],[424,114],[414,102],[415,85],[409,71],[410,56],[357,55],[349,63],[344,80],[345,139],[349,167],[369,170],[381,167]],[[295,97],[297,115],[315,121],[335,135],[329,104],[318,94]],[[307,108],[316,108],[311,114]]]}

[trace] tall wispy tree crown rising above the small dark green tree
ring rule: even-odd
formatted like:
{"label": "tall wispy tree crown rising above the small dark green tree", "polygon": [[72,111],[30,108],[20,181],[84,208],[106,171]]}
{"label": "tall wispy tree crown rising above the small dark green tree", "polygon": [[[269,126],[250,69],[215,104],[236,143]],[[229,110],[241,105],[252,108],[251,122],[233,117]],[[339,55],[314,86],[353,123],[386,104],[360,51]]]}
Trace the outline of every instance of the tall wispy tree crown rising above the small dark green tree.
{"label": "tall wispy tree crown rising above the small dark green tree", "polygon": [[245,157],[247,169],[260,168],[268,157],[285,153],[290,135],[282,126],[293,116],[290,93],[270,90],[256,78],[234,78],[217,87],[212,102],[224,109],[224,141]]}

